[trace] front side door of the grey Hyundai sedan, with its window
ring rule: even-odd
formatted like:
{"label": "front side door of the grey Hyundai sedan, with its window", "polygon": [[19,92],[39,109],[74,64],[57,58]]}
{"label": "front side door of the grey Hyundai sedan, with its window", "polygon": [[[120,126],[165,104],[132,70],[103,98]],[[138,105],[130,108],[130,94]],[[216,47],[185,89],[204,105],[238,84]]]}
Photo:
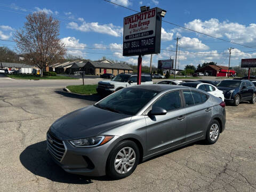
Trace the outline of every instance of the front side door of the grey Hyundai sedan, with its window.
{"label": "front side door of the grey Hyundai sedan, with its window", "polygon": [[146,115],[148,154],[171,148],[185,141],[187,119],[180,91],[171,91],[157,99],[152,107],[164,108],[165,115]]}

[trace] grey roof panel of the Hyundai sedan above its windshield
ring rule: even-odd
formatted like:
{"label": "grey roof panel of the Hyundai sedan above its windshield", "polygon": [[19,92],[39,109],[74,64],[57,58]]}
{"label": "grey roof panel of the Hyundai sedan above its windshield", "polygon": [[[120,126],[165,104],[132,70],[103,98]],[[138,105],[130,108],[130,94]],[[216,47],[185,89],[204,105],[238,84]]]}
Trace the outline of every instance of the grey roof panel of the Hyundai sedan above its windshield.
{"label": "grey roof panel of the Hyundai sedan above its windshield", "polygon": [[167,90],[186,89],[186,87],[179,86],[179,85],[153,84],[153,85],[134,85],[129,87],[129,89],[145,89],[145,90],[162,92]]}

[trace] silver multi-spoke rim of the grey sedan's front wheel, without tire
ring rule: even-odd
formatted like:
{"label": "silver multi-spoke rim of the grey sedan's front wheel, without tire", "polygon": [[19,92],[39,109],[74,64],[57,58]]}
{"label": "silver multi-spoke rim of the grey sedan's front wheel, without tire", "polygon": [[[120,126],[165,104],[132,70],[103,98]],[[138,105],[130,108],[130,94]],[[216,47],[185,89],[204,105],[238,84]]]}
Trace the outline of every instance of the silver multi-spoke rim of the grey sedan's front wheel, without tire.
{"label": "silver multi-spoke rim of the grey sedan's front wheel, without tire", "polygon": [[131,147],[124,147],[119,150],[114,162],[116,172],[119,174],[129,172],[135,163],[135,159],[135,151]]}

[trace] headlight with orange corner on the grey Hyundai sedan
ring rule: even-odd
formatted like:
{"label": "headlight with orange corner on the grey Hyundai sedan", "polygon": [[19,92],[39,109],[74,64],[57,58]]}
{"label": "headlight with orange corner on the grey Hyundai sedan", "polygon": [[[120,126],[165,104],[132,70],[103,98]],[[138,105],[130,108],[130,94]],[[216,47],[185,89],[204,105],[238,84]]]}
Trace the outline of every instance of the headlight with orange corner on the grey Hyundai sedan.
{"label": "headlight with orange corner on the grey Hyundai sedan", "polygon": [[114,136],[107,135],[107,136],[90,137],[85,139],[77,139],[69,142],[75,147],[95,147],[95,146],[103,145],[113,138]]}

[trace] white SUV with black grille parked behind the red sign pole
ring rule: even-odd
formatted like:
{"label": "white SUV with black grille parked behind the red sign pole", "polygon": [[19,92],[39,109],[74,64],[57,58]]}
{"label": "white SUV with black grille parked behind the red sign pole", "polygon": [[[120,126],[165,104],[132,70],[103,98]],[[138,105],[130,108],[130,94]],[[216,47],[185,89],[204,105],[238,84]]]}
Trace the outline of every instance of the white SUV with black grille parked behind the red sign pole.
{"label": "white SUV with black grille parked behind the red sign pole", "polygon": [[[153,84],[151,75],[141,75],[141,84]],[[97,92],[101,95],[111,94],[124,87],[137,85],[137,74],[119,74],[111,80],[100,81]]]}

